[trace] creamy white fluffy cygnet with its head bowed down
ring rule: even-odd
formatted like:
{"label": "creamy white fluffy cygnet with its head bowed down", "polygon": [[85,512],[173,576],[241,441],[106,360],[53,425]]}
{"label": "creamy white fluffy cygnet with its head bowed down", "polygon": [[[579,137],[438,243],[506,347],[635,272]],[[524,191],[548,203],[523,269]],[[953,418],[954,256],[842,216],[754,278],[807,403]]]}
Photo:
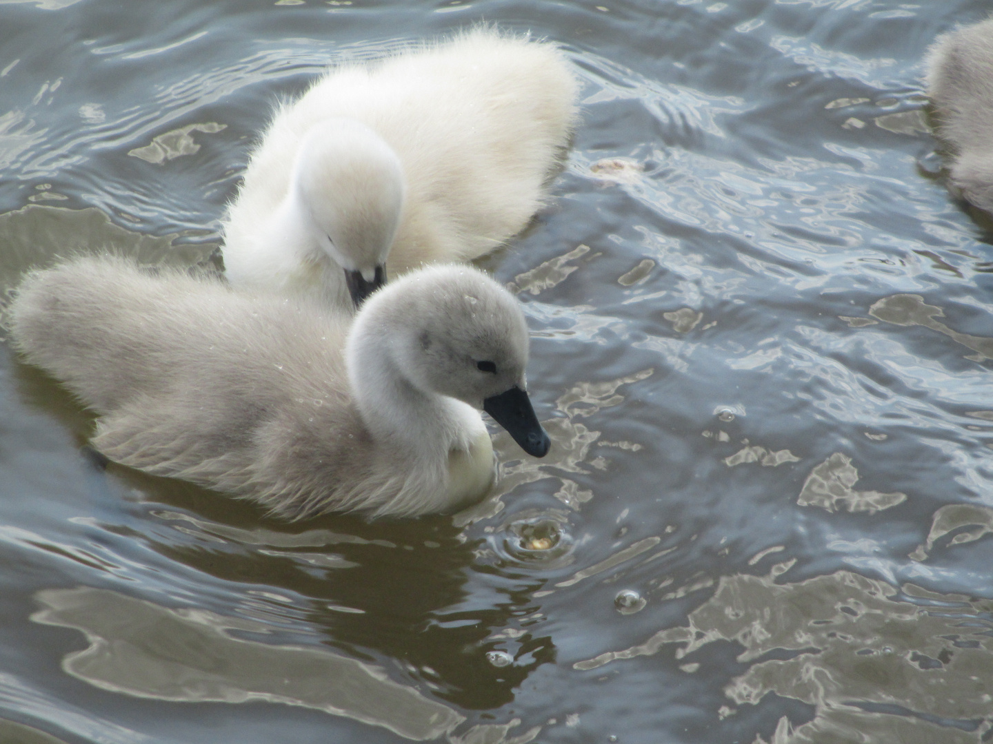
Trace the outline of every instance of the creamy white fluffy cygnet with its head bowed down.
{"label": "creamy white fluffy cygnet with its head bowed down", "polygon": [[333,67],[251,155],[228,281],[351,310],[387,275],[497,248],[546,200],[576,94],[555,46],[485,28]]}

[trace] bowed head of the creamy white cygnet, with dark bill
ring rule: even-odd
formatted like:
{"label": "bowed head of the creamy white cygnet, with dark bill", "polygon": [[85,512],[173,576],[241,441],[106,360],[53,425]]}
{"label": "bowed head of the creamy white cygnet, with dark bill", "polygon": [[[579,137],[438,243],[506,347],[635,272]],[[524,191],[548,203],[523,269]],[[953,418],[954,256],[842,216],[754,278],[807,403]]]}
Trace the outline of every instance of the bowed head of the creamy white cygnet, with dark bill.
{"label": "bowed head of the creamy white cygnet, with dark bill", "polygon": [[405,190],[399,157],[364,124],[328,119],[304,136],[291,187],[314,240],[345,271],[357,307],[386,282]]}

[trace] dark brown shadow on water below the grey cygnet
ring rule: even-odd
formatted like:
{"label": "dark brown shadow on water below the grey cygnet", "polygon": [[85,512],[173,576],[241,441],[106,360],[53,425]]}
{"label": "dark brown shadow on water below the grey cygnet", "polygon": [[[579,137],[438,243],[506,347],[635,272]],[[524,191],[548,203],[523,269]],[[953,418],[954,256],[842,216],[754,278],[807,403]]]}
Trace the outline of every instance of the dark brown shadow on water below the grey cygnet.
{"label": "dark brown shadow on water below the grey cygnet", "polygon": [[370,524],[328,516],[287,525],[202,489],[121,470],[109,468],[161,502],[146,505],[158,523],[147,538],[153,550],[218,581],[264,587],[250,590],[239,612],[271,618],[269,642],[338,648],[470,709],[510,702],[537,665],[554,661],[551,639],[529,634],[518,639],[513,663],[488,658],[490,637],[533,607],[520,589],[466,606],[479,543],[451,518]]}

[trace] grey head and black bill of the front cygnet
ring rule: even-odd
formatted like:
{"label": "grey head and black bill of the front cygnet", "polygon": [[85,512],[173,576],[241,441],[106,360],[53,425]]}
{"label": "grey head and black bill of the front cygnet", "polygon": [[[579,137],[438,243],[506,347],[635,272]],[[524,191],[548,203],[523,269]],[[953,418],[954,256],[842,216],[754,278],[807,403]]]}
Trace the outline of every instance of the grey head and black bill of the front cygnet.
{"label": "grey head and black bill of the front cygnet", "polygon": [[431,266],[377,292],[355,317],[347,356],[360,410],[373,407],[385,414],[382,407],[391,405],[383,396],[363,400],[363,387],[384,388],[363,385],[362,376],[392,375],[421,393],[485,410],[529,454],[548,452],[548,434],[525,392],[523,312],[509,292],[477,269]]}

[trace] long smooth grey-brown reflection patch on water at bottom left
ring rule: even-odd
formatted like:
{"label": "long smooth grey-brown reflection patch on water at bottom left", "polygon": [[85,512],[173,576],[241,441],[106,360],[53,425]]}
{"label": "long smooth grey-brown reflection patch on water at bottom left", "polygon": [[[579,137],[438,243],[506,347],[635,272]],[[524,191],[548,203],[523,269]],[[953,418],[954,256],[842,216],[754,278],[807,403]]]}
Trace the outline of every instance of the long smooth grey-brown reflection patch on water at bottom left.
{"label": "long smooth grey-brown reflection patch on water at bottom left", "polygon": [[180,611],[80,587],[39,593],[33,620],[82,631],[89,647],[66,657],[73,677],[103,689],[185,702],[262,699],[371,723],[416,741],[436,739],[463,717],[382,670],[313,649],[271,646],[230,631],[268,626],[203,610]]}

